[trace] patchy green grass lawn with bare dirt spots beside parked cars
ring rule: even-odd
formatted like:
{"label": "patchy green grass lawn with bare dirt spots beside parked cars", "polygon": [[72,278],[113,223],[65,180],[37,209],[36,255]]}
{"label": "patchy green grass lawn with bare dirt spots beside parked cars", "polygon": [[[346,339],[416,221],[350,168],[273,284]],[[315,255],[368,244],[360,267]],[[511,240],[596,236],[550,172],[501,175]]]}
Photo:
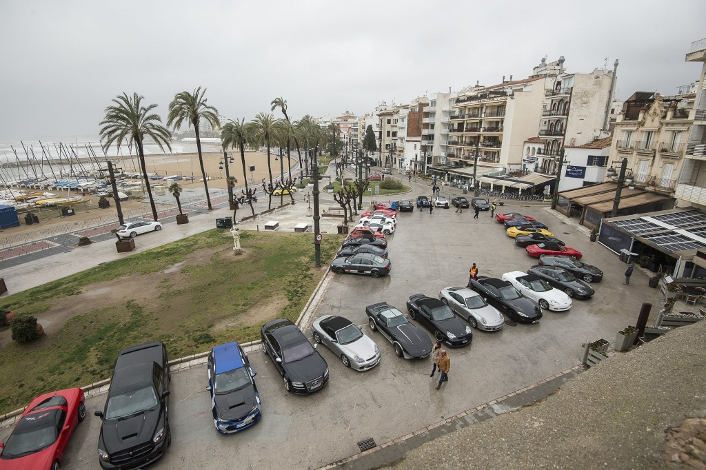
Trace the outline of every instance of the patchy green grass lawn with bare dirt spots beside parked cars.
{"label": "patchy green grass lawn with bare dirt spots beside parked cars", "polygon": [[[0,350],[0,414],[109,378],[118,352],[134,344],[159,339],[178,358],[257,339],[274,318],[297,320],[325,274],[313,268],[306,235],[241,232],[244,255],[234,256],[229,232],[211,230],[6,297],[1,309],[60,327]],[[324,236],[323,267],[342,239]]]}

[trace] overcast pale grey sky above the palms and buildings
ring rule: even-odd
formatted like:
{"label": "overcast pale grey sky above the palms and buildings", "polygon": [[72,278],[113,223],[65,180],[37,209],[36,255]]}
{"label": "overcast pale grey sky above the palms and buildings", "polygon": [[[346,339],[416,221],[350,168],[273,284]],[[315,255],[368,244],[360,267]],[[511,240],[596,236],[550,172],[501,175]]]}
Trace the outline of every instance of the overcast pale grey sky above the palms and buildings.
{"label": "overcast pale grey sky above the palms and buildings", "polygon": [[279,96],[294,118],[363,114],[525,78],[542,56],[570,72],[617,58],[619,98],[669,95],[698,78],[684,55],[706,37],[703,0],[3,0],[0,18],[2,141],[95,136],[121,92],[162,118],[198,86],[229,119]]}

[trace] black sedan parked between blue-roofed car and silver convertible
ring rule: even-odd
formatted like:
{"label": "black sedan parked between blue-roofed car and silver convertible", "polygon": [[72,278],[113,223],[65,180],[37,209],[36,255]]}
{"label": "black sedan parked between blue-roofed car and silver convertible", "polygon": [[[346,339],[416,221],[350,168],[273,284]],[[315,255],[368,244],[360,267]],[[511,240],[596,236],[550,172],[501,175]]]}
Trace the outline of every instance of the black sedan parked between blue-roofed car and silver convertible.
{"label": "black sedan parked between blue-roofed car and silver convertible", "polygon": [[272,358],[287,392],[305,395],[326,385],[328,364],[297,325],[278,318],[263,325],[260,337],[263,352]]}

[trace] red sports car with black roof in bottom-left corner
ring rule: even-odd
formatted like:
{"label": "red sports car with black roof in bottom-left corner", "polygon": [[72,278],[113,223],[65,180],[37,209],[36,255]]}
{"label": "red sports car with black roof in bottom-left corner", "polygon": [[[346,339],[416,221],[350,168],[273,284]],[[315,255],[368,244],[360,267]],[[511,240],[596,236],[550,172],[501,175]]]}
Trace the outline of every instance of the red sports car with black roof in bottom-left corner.
{"label": "red sports car with black roof in bottom-left corner", "polygon": [[59,470],[68,440],[85,416],[80,388],[33,399],[7,442],[0,442],[0,469]]}

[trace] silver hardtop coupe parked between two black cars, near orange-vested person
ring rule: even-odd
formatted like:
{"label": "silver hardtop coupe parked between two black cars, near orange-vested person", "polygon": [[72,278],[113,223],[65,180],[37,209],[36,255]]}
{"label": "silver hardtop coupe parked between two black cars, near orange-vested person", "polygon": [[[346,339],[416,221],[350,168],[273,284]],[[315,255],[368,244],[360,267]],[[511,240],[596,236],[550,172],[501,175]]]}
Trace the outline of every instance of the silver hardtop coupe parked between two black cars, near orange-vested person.
{"label": "silver hardtop coupe parked between two black cars, near orange-vested person", "polygon": [[479,330],[496,331],[505,325],[505,317],[497,308],[489,305],[481,294],[466,287],[445,287],[439,292],[439,299]]}

